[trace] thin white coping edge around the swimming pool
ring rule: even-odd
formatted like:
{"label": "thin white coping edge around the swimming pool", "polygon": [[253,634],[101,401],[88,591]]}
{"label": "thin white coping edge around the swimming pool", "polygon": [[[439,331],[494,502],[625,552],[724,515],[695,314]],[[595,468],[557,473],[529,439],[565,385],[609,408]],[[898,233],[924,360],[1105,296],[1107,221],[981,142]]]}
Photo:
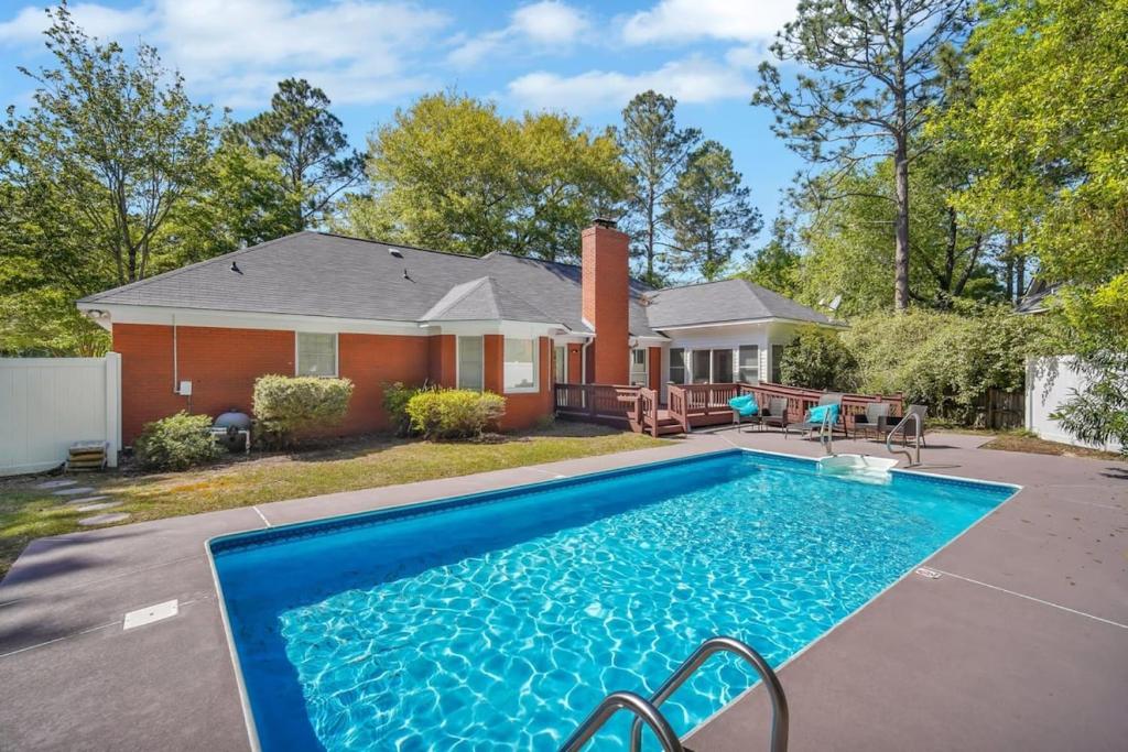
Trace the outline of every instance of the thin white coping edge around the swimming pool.
{"label": "thin white coping edge around the swimming pool", "polygon": [[[526,489],[528,489],[528,490],[532,490],[532,489],[540,490],[540,489],[553,488],[553,487],[558,487],[558,486],[580,485],[580,484],[584,484],[584,483],[590,483],[590,481],[592,481],[594,479],[599,479],[599,478],[624,476],[624,475],[634,475],[636,472],[643,472],[643,471],[645,471],[645,470],[647,470],[650,468],[654,468],[654,467],[659,467],[659,466],[661,466],[661,467],[669,467],[669,466],[676,466],[676,465],[690,465],[690,463],[702,462],[702,461],[705,461],[705,460],[708,460],[708,459],[713,459],[713,458],[717,458],[717,457],[723,457],[725,454],[738,454],[738,453],[766,454],[766,455],[774,457],[774,458],[783,458],[785,460],[793,461],[795,463],[803,463],[803,465],[807,465],[807,466],[814,466],[814,467],[818,467],[818,463],[819,463],[819,458],[812,458],[812,457],[807,457],[807,455],[801,455],[801,454],[792,454],[792,453],[787,453],[787,452],[776,452],[776,451],[764,450],[764,449],[752,449],[752,448],[748,448],[748,446],[740,446],[740,445],[732,444],[728,449],[719,449],[719,450],[714,450],[714,451],[706,451],[706,452],[700,452],[700,453],[696,453],[696,454],[690,454],[690,455],[687,455],[687,457],[677,457],[677,458],[671,458],[671,459],[653,460],[653,461],[649,461],[649,462],[641,462],[638,465],[631,465],[631,466],[626,466],[626,467],[610,468],[610,469],[606,469],[606,470],[594,470],[592,472],[584,472],[584,474],[580,474],[580,475],[575,475],[575,476],[567,476],[567,477],[562,477],[562,478],[548,478],[548,479],[545,479],[545,480],[535,480],[532,483],[527,483],[527,484],[515,484],[515,485],[512,485],[512,486],[502,486],[500,488],[491,488],[491,489],[487,489],[487,490],[479,490],[479,492],[474,492],[474,493],[469,493],[469,494],[459,494],[459,495],[456,495],[456,496],[444,496],[444,497],[440,497],[440,498],[431,498],[431,499],[424,499],[424,501],[418,501],[418,502],[407,502],[407,503],[404,503],[404,504],[395,504],[395,505],[390,505],[390,506],[386,506],[386,507],[381,507],[381,508],[377,508],[377,510],[368,510],[368,511],[363,511],[363,512],[350,512],[350,513],[344,513],[344,514],[331,514],[331,515],[326,515],[324,517],[316,517],[316,519],[312,519],[312,520],[302,520],[300,522],[291,522],[291,523],[287,523],[287,524],[282,524],[282,525],[276,525],[276,527],[272,525],[272,527],[266,528],[266,529],[256,528],[256,529],[248,529],[248,530],[244,530],[244,531],[224,532],[224,533],[220,533],[218,536],[213,536],[211,538],[205,539],[203,541],[204,554],[205,554],[205,558],[208,559],[208,565],[209,565],[210,570],[211,570],[212,582],[213,582],[213,584],[215,586],[217,600],[219,602],[220,619],[221,619],[221,621],[223,623],[223,635],[224,635],[224,638],[227,640],[228,653],[229,653],[229,655],[231,657],[231,664],[232,664],[232,667],[235,669],[235,679],[236,679],[236,684],[237,684],[238,691],[239,691],[239,702],[240,702],[240,706],[241,706],[241,709],[243,709],[243,717],[244,717],[244,723],[245,723],[246,732],[247,732],[247,741],[248,741],[248,743],[250,745],[252,752],[262,752],[262,744],[261,744],[259,738],[258,738],[258,729],[257,729],[257,725],[256,725],[256,722],[255,722],[255,718],[254,718],[254,713],[253,713],[252,707],[250,707],[250,696],[249,696],[249,692],[247,691],[246,682],[245,682],[244,675],[243,675],[243,665],[241,665],[241,663],[239,661],[238,649],[236,648],[236,644],[235,644],[235,635],[233,635],[232,629],[231,629],[231,621],[230,621],[230,617],[229,617],[228,610],[227,610],[227,599],[223,596],[223,585],[222,585],[222,583],[220,581],[220,577],[219,577],[219,570],[215,567],[215,554],[217,554],[217,551],[214,551],[213,548],[212,548],[212,546],[214,543],[217,543],[217,542],[223,543],[226,541],[229,541],[229,540],[232,540],[232,539],[239,539],[239,538],[244,538],[244,539],[246,539],[246,538],[252,538],[252,539],[256,539],[256,538],[271,538],[271,537],[276,537],[276,536],[279,536],[279,533],[283,533],[283,532],[285,532],[288,530],[298,530],[298,529],[325,528],[326,532],[331,532],[334,528],[351,527],[351,525],[344,524],[347,521],[370,520],[371,522],[369,522],[369,524],[380,524],[381,521],[387,522],[387,521],[394,521],[394,520],[402,520],[402,519],[407,519],[407,517],[411,517],[411,516],[421,516],[421,515],[425,515],[425,514],[429,514],[429,513],[430,514],[440,514],[440,513],[446,512],[446,511],[462,508],[462,507],[466,507],[466,506],[475,506],[475,505],[478,505],[478,504],[490,504],[490,503],[495,502],[495,501],[497,501],[497,502],[504,501],[504,498],[506,496],[512,495],[514,492],[522,492],[522,490],[526,490]],[[844,452],[844,454],[849,454],[849,452]],[[951,540],[949,540],[948,542],[945,542],[943,546],[941,546],[936,550],[934,550],[931,554],[928,554],[928,556],[926,556],[920,561],[914,564],[911,567],[909,567],[909,569],[907,572],[905,572],[905,574],[902,574],[899,577],[897,577],[895,581],[892,581],[891,583],[889,583],[888,585],[885,585],[884,587],[882,587],[878,593],[874,593],[874,595],[872,598],[866,599],[865,602],[861,603],[856,609],[854,609],[853,611],[851,611],[844,618],[841,618],[838,621],[836,621],[825,632],[822,632],[821,635],[819,635],[818,637],[816,637],[813,640],[811,640],[810,643],[808,643],[807,645],[804,645],[803,647],[801,647],[799,651],[796,651],[795,653],[793,653],[792,655],[790,655],[786,660],[784,660],[782,663],[779,663],[779,665],[773,666],[773,670],[775,672],[778,673],[779,671],[782,671],[784,669],[784,666],[786,666],[787,664],[790,664],[792,661],[799,658],[801,655],[803,655],[809,649],[811,649],[814,645],[817,645],[820,642],[822,642],[826,637],[830,636],[841,625],[844,625],[847,621],[849,621],[851,619],[853,619],[855,616],[857,616],[858,613],[861,613],[863,609],[865,609],[867,605],[870,605],[873,601],[875,601],[876,599],[879,599],[882,595],[884,595],[891,587],[893,587],[895,585],[897,585],[901,581],[906,580],[909,575],[916,574],[916,572],[924,564],[926,564],[928,560],[933,559],[934,557],[938,556],[949,546],[953,545],[960,538],[962,538],[963,536],[968,534],[972,529],[975,529],[984,520],[986,520],[988,516],[990,516],[990,514],[993,512],[995,512],[996,510],[998,510],[999,507],[1002,507],[1003,505],[1005,505],[1007,502],[1012,501],[1015,496],[1017,496],[1019,492],[1021,492],[1023,489],[1023,487],[1021,485],[1012,484],[1012,483],[1002,483],[1002,481],[996,481],[996,480],[979,480],[977,478],[964,478],[964,477],[960,477],[960,476],[950,476],[950,475],[936,474],[936,472],[922,472],[922,471],[911,470],[911,469],[908,469],[908,468],[897,468],[897,467],[893,467],[893,468],[890,468],[888,470],[888,472],[890,475],[898,474],[898,475],[904,475],[904,476],[908,476],[908,477],[914,477],[914,478],[923,479],[925,481],[933,481],[933,483],[941,481],[943,485],[995,486],[995,487],[998,487],[998,488],[1006,488],[1006,489],[1011,490],[1011,494],[1006,498],[1004,498],[1003,501],[1001,501],[998,504],[996,504],[995,506],[992,506],[989,510],[986,510],[980,516],[976,517],[967,528],[964,528],[961,532],[959,532],[954,538],[952,538]],[[844,478],[841,476],[837,476],[836,479],[849,483],[849,480],[847,478]],[[431,507],[439,507],[439,506],[441,506],[442,508],[431,510]],[[405,512],[412,512],[412,511],[416,511],[417,514],[405,514]],[[336,524],[334,524],[334,523],[336,523]],[[360,524],[360,523],[358,522],[358,524]],[[317,534],[317,533],[315,532],[315,533],[311,533],[311,534]],[[248,545],[248,548],[252,547],[252,546],[253,546],[253,543]],[[220,551],[220,552],[222,552],[222,551]],[[763,682],[760,680],[755,681],[751,685],[748,687],[748,689],[746,689],[742,692],[738,693],[735,697],[733,697],[731,700],[729,700],[728,702],[725,702],[723,706],[721,706],[714,713],[712,713],[708,716],[706,716],[700,723],[698,723],[697,725],[695,725],[693,728],[690,728],[688,732],[686,732],[686,734],[682,735],[682,737],[681,737],[682,741],[688,741],[689,738],[691,738],[694,736],[694,734],[698,733],[707,724],[710,724],[713,720],[715,720],[721,714],[723,714],[724,711],[726,711],[730,708],[732,708],[738,701],[742,700],[750,692],[755,691],[761,683]]]}

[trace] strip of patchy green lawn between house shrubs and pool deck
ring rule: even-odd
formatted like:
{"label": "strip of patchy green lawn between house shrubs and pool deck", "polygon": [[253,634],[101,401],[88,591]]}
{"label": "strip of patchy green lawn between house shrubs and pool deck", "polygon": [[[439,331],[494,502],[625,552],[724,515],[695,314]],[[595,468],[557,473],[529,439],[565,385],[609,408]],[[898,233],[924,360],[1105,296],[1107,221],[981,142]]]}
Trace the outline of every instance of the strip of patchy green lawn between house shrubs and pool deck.
{"label": "strip of patchy green lawn between house shrubs and pool deck", "polygon": [[[432,443],[373,437],[329,449],[231,459],[224,463],[159,475],[77,475],[76,479],[123,502],[107,512],[129,512],[130,522],[196,514],[236,506],[376,488],[433,478],[502,470],[555,460],[609,454],[670,443],[642,434],[580,423],[505,436],[497,443]],[[79,530],[86,516],[67,499],[32,486],[0,486],[0,576],[35,538]]]}

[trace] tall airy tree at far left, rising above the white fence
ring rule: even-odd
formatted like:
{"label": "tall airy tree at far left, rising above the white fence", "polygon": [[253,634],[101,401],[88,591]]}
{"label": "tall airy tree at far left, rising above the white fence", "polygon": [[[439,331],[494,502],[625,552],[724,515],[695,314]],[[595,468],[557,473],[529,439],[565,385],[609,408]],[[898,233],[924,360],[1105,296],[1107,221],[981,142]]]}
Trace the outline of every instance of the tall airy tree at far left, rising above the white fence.
{"label": "tall airy tree at far left, rising above the white fence", "polygon": [[8,110],[0,177],[35,196],[29,213],[43,210],[25,229],[38,224],[55,241],[69,239],[46,253],[99,271],[108,263],[117,284],[144,278],[164,250],[162,225],[205,169],[211,110],[192,104],[155,48],[141,45],[130,61],[116,43],[87,37],[65,5],[47,12],[58,67],[20,69],[39,88],[26,115]]}

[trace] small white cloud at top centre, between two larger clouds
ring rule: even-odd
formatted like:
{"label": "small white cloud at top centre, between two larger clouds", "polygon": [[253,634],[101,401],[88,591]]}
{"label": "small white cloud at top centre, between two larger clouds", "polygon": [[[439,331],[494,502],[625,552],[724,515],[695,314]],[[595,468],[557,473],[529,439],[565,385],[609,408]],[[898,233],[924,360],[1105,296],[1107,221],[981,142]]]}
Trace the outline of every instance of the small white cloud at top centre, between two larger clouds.
{"label": "small white cloud at top centre, between two larger clouds", "polygon": [[556,0],[521,6],[510,16],[505,28],[466,39],[447,55],[447,62],[456,68],[472,68],[522,43],[538,51],[562,50],[576,42],[589,25],[582,11]]}

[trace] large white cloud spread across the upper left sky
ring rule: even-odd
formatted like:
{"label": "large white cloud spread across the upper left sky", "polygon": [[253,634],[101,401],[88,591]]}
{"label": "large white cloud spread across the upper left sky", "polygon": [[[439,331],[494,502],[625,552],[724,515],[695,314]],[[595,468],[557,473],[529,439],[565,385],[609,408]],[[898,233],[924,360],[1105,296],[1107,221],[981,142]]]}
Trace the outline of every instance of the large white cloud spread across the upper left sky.
{"label": "large white cloud spread across the upper left sky", "polygon": [[[130,10],[71,6],[90,35],[153,43],[192,91],[217,105],[257,107],[279,80],[303,77],[334,103],[395,99],[437,86],[417,72],[418,55],[448,25],[438,11],[398,0],[149,0]],[[0,24],[0,44],[39,43],[42,10]]]}

